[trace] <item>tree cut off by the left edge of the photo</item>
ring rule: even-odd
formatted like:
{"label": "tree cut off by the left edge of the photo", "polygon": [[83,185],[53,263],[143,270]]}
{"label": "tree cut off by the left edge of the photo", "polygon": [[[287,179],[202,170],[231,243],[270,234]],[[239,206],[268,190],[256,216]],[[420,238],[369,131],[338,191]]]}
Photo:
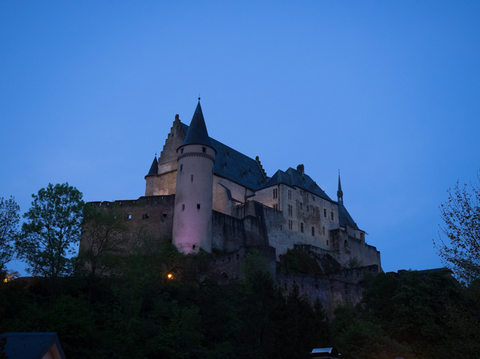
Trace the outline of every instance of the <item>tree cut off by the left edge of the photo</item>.
{"label": "tree cut off by the left edge of the photo", "polygon": [[9,200],[0,198],[0,272],[13,259],[14,240],[18,234],[20,207],[13,197]]}

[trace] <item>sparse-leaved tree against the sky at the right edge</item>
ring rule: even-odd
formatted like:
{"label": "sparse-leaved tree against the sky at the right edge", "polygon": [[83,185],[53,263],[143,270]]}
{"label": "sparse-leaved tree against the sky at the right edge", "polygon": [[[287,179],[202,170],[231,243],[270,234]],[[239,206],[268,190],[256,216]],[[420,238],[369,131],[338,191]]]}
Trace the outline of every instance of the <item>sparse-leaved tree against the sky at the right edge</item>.
{"label": "sparse-leaved tree against the sky at the right edge", "polygon": [[[465,284],[480,279],[480,170],[477,184],[470,183],[448,189],[448,200],[440,204],[439,240],[433,240],[443,262]],[[446,236],[444,239],[443,236]]]}

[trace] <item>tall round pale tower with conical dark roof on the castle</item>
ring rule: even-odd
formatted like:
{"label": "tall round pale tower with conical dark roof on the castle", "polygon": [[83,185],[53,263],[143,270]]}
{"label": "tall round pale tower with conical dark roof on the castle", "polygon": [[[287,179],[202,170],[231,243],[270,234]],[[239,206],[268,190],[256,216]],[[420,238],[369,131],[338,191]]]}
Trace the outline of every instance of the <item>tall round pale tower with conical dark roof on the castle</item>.
{"label": "tall round pale tower with conical dark roof on the castle", "polygon": [[185,141],[176,152],[173,244],[184,253],[197,253],[200,247],[212,252],[213,165],[217,151],[210,143],[200,101]]}

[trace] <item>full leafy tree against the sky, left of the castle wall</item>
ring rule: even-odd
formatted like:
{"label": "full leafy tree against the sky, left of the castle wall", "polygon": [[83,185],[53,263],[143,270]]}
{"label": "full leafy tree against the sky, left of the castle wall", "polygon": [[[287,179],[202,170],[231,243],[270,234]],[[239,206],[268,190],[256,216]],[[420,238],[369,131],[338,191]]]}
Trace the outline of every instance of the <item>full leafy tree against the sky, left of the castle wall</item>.
{"label": "full leafy tree against the sky, left of the castle wall", "polygon": [[44,277],[62,277],[72,271],[75,245],[80,240],[82,193],[65,184],[49,184],[32,195],[31,209],[16,242],[19,256],[29,267],[27,272]]}

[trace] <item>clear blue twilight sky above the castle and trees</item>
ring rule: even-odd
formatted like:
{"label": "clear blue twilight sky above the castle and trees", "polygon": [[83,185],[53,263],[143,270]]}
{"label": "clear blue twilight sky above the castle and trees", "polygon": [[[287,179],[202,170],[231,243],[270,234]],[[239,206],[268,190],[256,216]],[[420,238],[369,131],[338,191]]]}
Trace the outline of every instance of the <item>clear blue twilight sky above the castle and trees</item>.
{"label": "clear blue twilight sky above the castle and trees", "polygon": [[[304,164],[383,269],[441,266],[480,168],[478,1],[0,1],[0,197],[144,195],[175,114],[267,171]],[[20,270],[22,263],[10,263]]]}

